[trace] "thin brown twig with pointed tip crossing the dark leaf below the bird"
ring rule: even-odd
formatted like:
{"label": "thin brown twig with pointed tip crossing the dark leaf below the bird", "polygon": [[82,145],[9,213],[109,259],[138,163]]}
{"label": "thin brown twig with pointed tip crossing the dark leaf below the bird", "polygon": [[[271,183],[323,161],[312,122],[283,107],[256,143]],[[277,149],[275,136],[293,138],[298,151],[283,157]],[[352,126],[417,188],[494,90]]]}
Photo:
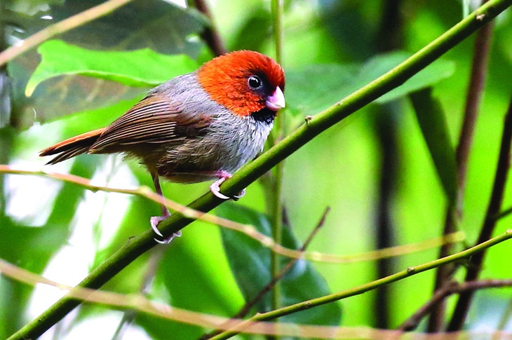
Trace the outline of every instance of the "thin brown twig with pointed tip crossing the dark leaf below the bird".
{"label": "thin brown twig with pointed tip crossing the dark leaf below the bird", "polygon": [[[321,229],[321,227],[325,224],[325,218],[327,217],[329,211],[330,211],[330,207],[325,208],[325,211],[323,212],[322,217],[320,218],[320,221],[318,221],[318,224],[316,224],[315,228],[311,231],[311,233],[309,233],[309,236],[304,241],[304,244],[302,245],[302,247],[299,248],[300,251],[304,252],[304,250],[306,250],[306,248],[309,246],[309,244],[311,243],[313,238],[316,236],[316,233],[318,233],[318,231]],[[284,266],[281,269],[281,271],[278,273],[278,275],[274,276],[274,278],[272,278],[272,280],[270,280],[270,282],[267,283],[267,285],[265,285],[265,287],[263,287],[260,290],[260,292],[258,292],[255,295],[255,297],[252,298],[252,300],[247,301],[243,305],[243,307],[240,309],[240,311],[238,311],[238,313],[236,313],[233,316],[233,318],[240,319],[240,318],[245,317],[245,315],[247,315],[247,313],[249,313],[250,308],[254,307],[258,303],[258,301],[261,301],[261,299],[263,299],[265,294],[267,294],[268,292],[270,292],[272,290],[272,288],[274,288],[274,285],[276,285],[278,280],[281,280],[286,275],[286,273],[288,273],[288,271],[290,271],[290,269],[293,268],[293,266],[295,266],[297,261],[299,261],[299,259],[291,259],[290,261],[288,261],[288,264],[286,264],[286,266]],[[215,336],[220,333],[222,333],[221,329],[215,329],[213,332],[204,334],[198,340],[210,339],[212,336]]]}

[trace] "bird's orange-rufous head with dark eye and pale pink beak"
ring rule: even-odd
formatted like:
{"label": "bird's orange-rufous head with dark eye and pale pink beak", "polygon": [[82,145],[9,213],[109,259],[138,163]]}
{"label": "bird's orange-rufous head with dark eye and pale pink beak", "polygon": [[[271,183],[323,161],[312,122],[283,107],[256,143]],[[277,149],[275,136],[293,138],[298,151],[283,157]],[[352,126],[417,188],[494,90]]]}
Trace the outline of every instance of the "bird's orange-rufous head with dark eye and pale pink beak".
{"label": "bird's orange-rufous head with dark eye and pale pink beak", "polygon": [[267,55],[239,50],[203,64],[197,74],[206,93],[237,116],[285,106],[283,69]]}

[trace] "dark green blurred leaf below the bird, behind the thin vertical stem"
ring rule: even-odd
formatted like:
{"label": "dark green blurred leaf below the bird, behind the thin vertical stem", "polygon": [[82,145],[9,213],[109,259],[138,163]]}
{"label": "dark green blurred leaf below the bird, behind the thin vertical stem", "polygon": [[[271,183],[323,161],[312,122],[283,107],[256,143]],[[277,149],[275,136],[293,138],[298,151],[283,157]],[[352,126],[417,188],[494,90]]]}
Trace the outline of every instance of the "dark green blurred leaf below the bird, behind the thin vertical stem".
{"label": "dark green blurred leaf below the bird, behind the thin vertical stem", "polygon": [[[255,210],[233,203],[224,203],[217,208],[217,214],[240,222],[252,224],[257,231],[269,236],[270,224],[267,217]],[[231,271],[247,301],[271,280],[270,250],[260,243],[248,238],[243,233],[226,228],[221,229],[222,241],[226,250]],[[299,244],[290,228],[283,228],[283,245],[298,249]],[[281,257],[284,266],[290,259]],[[281,280],[281,299],[285,306],[330,294],[323,277],[314,266],[299,260]],[[263,313],[271,310],[271,293],[257,304],[257,311]],[[326,304],[280,318],[283,322],[295,322],[310,325],[339,325],[341,309],[338,304]]]}

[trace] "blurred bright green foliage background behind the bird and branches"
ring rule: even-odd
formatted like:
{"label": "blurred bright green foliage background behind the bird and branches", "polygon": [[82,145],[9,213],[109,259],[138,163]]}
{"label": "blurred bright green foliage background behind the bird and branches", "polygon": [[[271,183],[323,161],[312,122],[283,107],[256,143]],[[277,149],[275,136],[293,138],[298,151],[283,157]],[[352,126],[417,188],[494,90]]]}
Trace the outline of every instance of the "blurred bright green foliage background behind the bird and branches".
{"label": "blurred bright green foliage background behind the bird and branches", "polygon": [[[305,116],[318,114],[384,74],[462,20],[478,2],[284,1],[282,64],[287,77],[287,107],[279,114],[285,115],[285,130],[295,130]],[[99,3],[2,0],[1,50]],[[150,48],[163,55],[184,54],[192,61],[182,66],[189,67],[189,72],[215,55],[201,35],[210,22],[194,4],[190,5],[132,1],[54,39],[69,46],[104,52]],[[276,56],[269,1],[212,0],[207,5],[213,18],[211,25],[217,28],[227,50],[250,49]],[[490,200],[512,90],[511,41],[511,12],[506,11],[497,18],[492,31],[485,66],[487,81],[478,109],[462,215],[457,224],[457,230],[464,231],[466,239],[455,245],[454,251],[475,243]],[[408,95],[412,90],[431,88],[443,110],[449,147],[455,149],[464,117],[474,43],[473,34],[425,69],[419,85],[406,83],[401,93],[382,97],[356,111],[285,160],[283,205],[285,229],[290,237],[288,246],[301,245],[328,207],[325,223],[308,250],[361,254],[442,235],[449,198]],[[48,49],[51,51],[52,46]],[[59,57],[65,57],[64,54]],[[38,156],[38,151],[55,142],[108,125],[140,100],[151,84],[173,76],[173,69],[158,64],[159,59],[152,55],[137,58],[147,72],[141,82],[144,86],[127,86],[102,79],[94,72],[93,76],[86,76],[92,66],[83,57],[83,64],[77,67],[81,72],[62,71],[61,75],[57,70],[57,76],[37,83],[29,97],[25,88],[41,62],[38,51],[31,50],[4,65],[0,70],[0,164],[71,173],[100,185],[151,186],[149,174],[137,161],[123,161],[119,155],[82,155],[51,167],[44,165],[48,159]],[[122,66],[123,59],[112,58],[111,63]],[[169,73],[160,72],[161,69],[168,69]],[[151,78],[153,74],[157,76]],[[255,224],[260,231],[269,233],[267,215],[271,211],[269,202],[273,201],[273,180],[272,174],[265,175],[248,187],[241,200],[226,203],[213,213]],[[166,182],[163,191],[171,200],[187,204],[206,193],[209,184],[184,186]],[[510,192],[507,184],[503,208],[512,205]],[[79,283],[128,238],[146,231],[149,217],[160,211],[159,205],[144,198],[93,193],[75,184],[32,175],[0,173],[0,193],[1,258],[67,285]],[[500,219],[495,234],[511,228],[510,222],[509,217]],[[269,251],[246,236],[205,222],[194,222],[182,233],[181,238],[166,247],[159,261],[149,287],[151,299],[229,317],[269,278]],[[511,278],[511,251],[510,243],[492,247],[481,278]],[[283,305],[368,283],[408,266],[432,261],[438,253],[438,248],[431,248],[379,261],[311,262],[304,268],[294,268],[288,276],[290,283],[299,285],[300,292],[286,288],[287,283],[283,282]],[[144,254],[105,289],[139,291],[150,259],[151,253]],[[382,290],[312,310],[310,315],[298,313],[283,321],[393,329],[429,300],[434,276],[435,271],[422,273]],[[455,277],[463,278],[464,271],[458,270]],[[256,282],[256,278],[262,282]],[[0,338],[35,318],[62,294],[54,288],[32,287],[1,276]],[[510,289],[478,292],[466,329],[506,327],[511,331],[511,297]],[[447,301],[450,311],[455,299]],[[263,301],[257,308],[265,311],[271,307],[269,301]],[[88,304],[68,315],[44,339],[81,339],[84,334],[90,339],[96,332],[93,329],[98,329],[98,339],[112,339],[122,317],[122,311]],[[419,330],[424,330],[425,325],[423,322]],[[205,329],[137,315],[123,339],[169,339],[170,332],[175,335],[173,339],[196,339]]]}

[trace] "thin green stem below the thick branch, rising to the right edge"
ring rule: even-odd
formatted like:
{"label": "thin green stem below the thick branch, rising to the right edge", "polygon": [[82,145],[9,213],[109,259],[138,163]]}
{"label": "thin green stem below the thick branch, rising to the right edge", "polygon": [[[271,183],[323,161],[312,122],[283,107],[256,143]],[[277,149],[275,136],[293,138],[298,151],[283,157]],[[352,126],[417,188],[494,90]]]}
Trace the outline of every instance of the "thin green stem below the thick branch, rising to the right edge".
{"label": "thin green stem below the thick branch, rising to the right edge", "polygon": [[[347,297],[353,297],[359,294],[363,294],[365,292],[369,292],[370,290],[375,290],[377,287],[382,287],[384,285],[389,285],[389,283],[396,282],[398,280],[402,280],[404,278],[408,278],[410,276],[422,273],[424,271],[429,271],[433,268],[437,268],[438,266],[443,266],[443,264],[450,264],[455,261],[462,261],[471,257],[473,254],[478,254],[483,252],[483,250],[492,247],[493,245],[497,245],[498,243],[504,242],[512,238],[512,229],[508,229],[505,233],[497,236],[495,238],[491,238],[484,243],[480,243],[474,247],[463,250],[462,252],[458,252],[457,254],[453,254],[447,257],[443,257],[442,259],[436,259],[434,261],[427,262],[426,264],[420,264],[419,266],[409,267],[404,271],[399,271],[390,276],[386,276],[385,278],[380,278],[379,280],[372,281],[370,283],[366,283],[365,285],[360,285],[358,287],[353,287],[349,290],[344,290],[342,292],[337,292],[335,294],[329,294],[325,297],[318,297],[316,299],[311,299],[309,301],[303,301],[299,304],[294,304],[292,306],[288,306],[285,308],[280,308],[276,311],[271,311],[268,313],[257,314],[248,320],[244,320],[241,323],[245,324],[246,327],[251,324],[251,322],[255,321],[268,321],[274,320],[275,318],[279,318],[281,316],[289,315],[292,313],[297,313],[299,311],[305,311],[309,308],[314,308],[316,306],[321,306],[323,304],[329,304],[334,301],[339,301],[341,299],[346,299]],[[236,326],[235,326],[236,327]],[[243,329],[226,331],[221,333],[210,340],[221,340],[221,339],[229,339],[231,336],[234,336],[243,331]]]}

